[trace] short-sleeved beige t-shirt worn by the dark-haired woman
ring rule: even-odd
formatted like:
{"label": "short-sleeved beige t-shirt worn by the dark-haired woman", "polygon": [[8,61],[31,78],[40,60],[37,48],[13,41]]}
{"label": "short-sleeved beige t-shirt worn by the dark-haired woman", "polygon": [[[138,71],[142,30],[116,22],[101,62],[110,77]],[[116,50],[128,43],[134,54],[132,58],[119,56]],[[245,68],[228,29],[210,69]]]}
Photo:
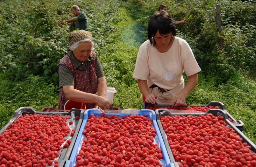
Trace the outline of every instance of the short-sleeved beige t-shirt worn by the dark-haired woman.
{"label": "short-sleeved beige t-shirt worn by the dark-haired woman", "polygon": [[[187,76],[201,71],[189,44],[180,37],[175,37],[169,51],[160,53],[148,41],[139,49],[133,78],[148,80],[152,84],[166,90],[184,85],[182,73]],[[184,86],[183,86],[184,87]]]}

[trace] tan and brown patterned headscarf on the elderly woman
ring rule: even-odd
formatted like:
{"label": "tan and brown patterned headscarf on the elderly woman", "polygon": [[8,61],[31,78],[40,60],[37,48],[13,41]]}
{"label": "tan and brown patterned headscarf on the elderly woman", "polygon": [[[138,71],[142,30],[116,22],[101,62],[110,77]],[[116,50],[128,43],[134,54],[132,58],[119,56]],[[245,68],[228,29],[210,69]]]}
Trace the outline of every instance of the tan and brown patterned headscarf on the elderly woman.
{"label": "tan and brown patterned headscarf on the elderly woman", "polygon": [[69,45],[71,46],[72,44],[85,39],[89,39],[93,41],[92,32],[85,31],[85,30],[73,31],[72,33],[70,33],[68,37],[68,42],[69,42]]}

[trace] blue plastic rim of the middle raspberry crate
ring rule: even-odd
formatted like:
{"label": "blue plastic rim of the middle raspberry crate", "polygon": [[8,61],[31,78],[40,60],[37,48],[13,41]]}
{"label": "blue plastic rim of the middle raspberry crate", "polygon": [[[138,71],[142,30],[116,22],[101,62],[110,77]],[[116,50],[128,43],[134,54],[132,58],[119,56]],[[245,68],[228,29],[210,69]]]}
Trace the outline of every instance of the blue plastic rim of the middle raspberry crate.
{"label": "blue plastic rim of the middle raspberry crate", "polygon": [[[73,167],[76,164],[76,155],[80,150],[79,145],[83,141],[83,138],[84,138],[83,130],[84,130],[84,127],[87,123],[88,117],[91,114],[94,114],[95,116],[100,116],[100,115],[102,115],[102,112],[99,111],[98,109],[88,109],[88,110],[85,111],[84,121],[81,125],[79,134],[77,136],[77,140],[76,140],[73,152],[70,156],[70,160],[66,162],[65,167]],[[163,155],[164,163],[165,163],[166,167],[174,167],[174,164],[170,162],[168,152],[165,148],[161,132],[160,132],[158,124],[156,122],[155,113],[152,110],[140,110],[139,112],[136,112],[136,113],[120,113],[120,112],[119,113],[113,113],[113,112],[110,112],[110,113],[105,113],[105,114],[107,114],[107,115],[118,115],[118,117],[120,117],[120,118],[122,116],[130,115],[130,114],[133,114],[133,115],[134,114],[139,114],[139,115],[146,115],[147,118],[152,119],[153,120],[153,127],[156,130],[156,135],[158,136],[158,139],[159,139],[159,147],[162,149],[162,155]]]}

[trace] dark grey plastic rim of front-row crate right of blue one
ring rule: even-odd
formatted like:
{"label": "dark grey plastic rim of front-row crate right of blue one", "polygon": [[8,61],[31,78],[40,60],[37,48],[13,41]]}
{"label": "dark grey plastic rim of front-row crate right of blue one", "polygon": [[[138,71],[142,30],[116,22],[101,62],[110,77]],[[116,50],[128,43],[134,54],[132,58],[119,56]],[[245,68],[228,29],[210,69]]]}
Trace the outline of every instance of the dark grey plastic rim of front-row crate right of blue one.
{"label": "dark grey plastic rim of front-row crate right of blue one", "polygon": [[[162,134],[162,137],[163,137],[163,140],[164,140],[164,144],[166,146],[166,149],[167,149],[167,152],[169,154],[169,157],[170,157],[170,160],[171,160],[171,163],[174,163],[174,165],[176,167],[179,167],[178,163],[175,162],[174,160],[174,156],[172,154],[172,151],[171,151],[171,148],[170,148],[170,145],[169,145],[169,142],[167,140],[167,135],[165,134],[164,130],[163,130],[163,127],[162,127],[162,124],[160,122],[160,116],[161,115],[170,115],[170,116],[174,116],[174,115],[184,115],[184,116],[187,116],[187,115],[193,115],[193,116],[199,116],[199,115],[206,115],[208,113],[211,113],[212,115],[221,115],[224,117],[224,120],[225,122],[228,124],[228,126],[232,129],[235,130],[235,132],[241,137],[243,138],[244,142],[246,142],[249,146],[252,147],[252,152],[253,153],[256,153],[256,145],[251,141],[249,140],[249,138],[243,134],[233,123],[231,123],[229,120],[228,120],[228,114],[223,111],[223,110],[220,110],[220,109],[211,109],[211,110],[208,110],[206,111],[205,113],[202,113],[202,112],[198,112],[198,113],[182,113],[182,112],[177,112],[177,113],[172,113],[172,112],[166,112],[165,111],[166,109],[157,109],[155,111],[156,113],[156,117],[157,117],[157,123],[158,123],[158,126],[159,126],[159,129],[161,131],[161,134]],[[165,111],[165,112],[164,112]],[[168,110],[167,110],[168,111]],[[164,114],[163,114],[164,112]],[[162,114],[161,114],[162,113]]]}

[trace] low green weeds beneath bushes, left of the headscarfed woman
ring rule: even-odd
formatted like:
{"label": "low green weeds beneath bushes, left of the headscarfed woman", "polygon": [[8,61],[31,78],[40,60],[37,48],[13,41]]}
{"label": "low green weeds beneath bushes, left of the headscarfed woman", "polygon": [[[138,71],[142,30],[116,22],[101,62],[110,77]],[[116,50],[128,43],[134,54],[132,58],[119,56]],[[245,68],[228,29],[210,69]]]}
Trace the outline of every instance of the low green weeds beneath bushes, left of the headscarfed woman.
{"label": "low green weeds beneath bushes, left of the headscarfed woman", "polygon": [[48,106],[57,108],[58,87],[47,84],[44,78],[31,75],[26,80],[13,81],[6,74],[0,74],[0,78],[0,127],[9,122],[20,107],[31,107],[35,111]]}

